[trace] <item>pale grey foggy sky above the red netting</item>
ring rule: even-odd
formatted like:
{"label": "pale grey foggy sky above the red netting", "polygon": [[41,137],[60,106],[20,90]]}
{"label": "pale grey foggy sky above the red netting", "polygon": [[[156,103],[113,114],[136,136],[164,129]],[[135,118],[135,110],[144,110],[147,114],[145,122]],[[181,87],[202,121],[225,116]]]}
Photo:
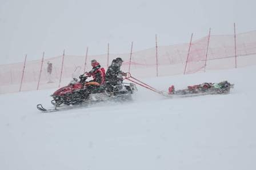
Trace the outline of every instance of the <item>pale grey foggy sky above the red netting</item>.
{"label": "pale grey foggy sky above the red netting", "polygon": [[193,1],[10,1],[0,0],[0,64],[67,54],[129,52],[187,43],[212,34],[256,30],[256,2]]}

